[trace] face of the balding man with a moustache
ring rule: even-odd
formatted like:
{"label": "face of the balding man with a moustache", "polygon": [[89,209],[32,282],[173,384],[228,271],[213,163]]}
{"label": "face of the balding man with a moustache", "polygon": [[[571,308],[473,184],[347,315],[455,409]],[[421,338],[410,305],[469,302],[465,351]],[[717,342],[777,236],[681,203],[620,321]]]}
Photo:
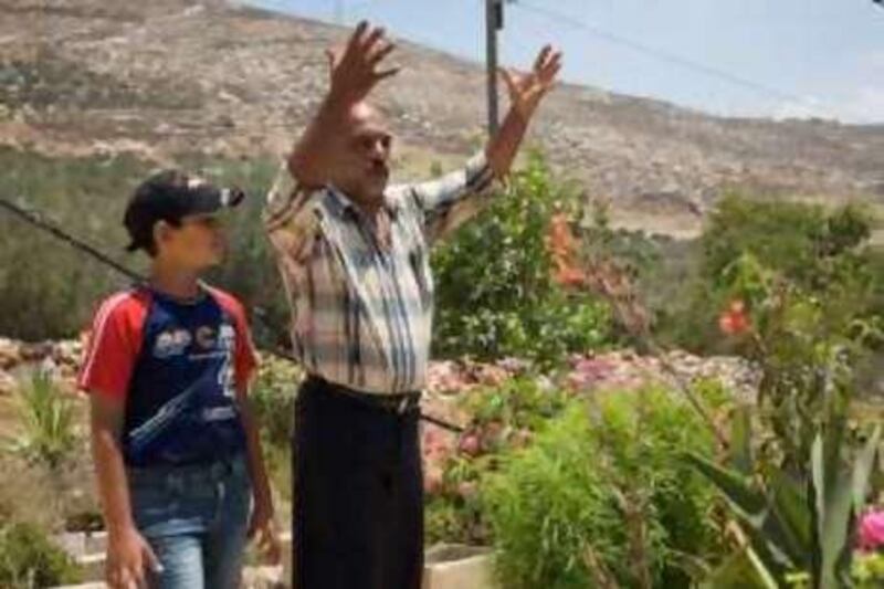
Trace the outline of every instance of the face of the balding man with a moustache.
{"label": "face of the balding man with a moustache", "polygon": [[380,113],[366,103],[354,106],[349,133],[340,139],[340,158],[332,183],[357,202],[381,202],[390,178],[392,135]]}

